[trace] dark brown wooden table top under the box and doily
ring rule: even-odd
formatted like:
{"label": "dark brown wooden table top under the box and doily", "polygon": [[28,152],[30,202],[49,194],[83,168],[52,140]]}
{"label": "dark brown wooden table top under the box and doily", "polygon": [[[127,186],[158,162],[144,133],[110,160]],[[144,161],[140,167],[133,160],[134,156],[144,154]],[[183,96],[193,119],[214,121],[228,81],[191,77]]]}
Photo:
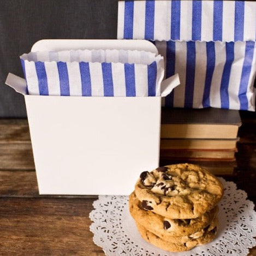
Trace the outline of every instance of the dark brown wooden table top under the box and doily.
{"label": "dark brown wooden table top under the box and doily", "polygon": [[[225,179],[236,182],[255,204],[256,115],[241,112],[241,117],[237,168]],[[104,255],[89,230],[97,197],[38,194],[26,120],[0,120],[0,181],[1,256]],[[249,255],[256,256],[256,247]]]}

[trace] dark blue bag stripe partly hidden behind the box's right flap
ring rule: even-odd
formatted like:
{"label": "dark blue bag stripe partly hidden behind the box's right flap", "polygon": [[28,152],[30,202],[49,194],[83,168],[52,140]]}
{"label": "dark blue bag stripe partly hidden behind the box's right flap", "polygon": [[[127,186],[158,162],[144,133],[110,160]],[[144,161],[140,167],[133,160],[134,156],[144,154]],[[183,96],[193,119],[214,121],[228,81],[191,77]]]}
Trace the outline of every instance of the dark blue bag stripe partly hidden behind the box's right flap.
{"label": "dark blue bag stripe partly hidden behind the box's right flap", "polygon": [[[175,74],[175,41],[166,42],[166,78]],[[174,90],[165,97],[165,106],[174,105]]]}

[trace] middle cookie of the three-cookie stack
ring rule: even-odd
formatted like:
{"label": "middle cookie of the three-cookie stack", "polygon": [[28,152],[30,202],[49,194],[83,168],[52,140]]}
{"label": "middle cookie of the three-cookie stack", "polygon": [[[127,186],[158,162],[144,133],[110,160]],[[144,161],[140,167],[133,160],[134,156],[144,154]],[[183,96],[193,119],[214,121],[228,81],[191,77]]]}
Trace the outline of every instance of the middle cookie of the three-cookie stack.
{"label": "middle cookie of the three-cookie stack", "polygon": [[164,236],[186,236],[203,230],[217,215],[218,206],[195,219],[169,219],[144,210],[133,192],[129,197],[129,210],[136,222],[162,238]]}

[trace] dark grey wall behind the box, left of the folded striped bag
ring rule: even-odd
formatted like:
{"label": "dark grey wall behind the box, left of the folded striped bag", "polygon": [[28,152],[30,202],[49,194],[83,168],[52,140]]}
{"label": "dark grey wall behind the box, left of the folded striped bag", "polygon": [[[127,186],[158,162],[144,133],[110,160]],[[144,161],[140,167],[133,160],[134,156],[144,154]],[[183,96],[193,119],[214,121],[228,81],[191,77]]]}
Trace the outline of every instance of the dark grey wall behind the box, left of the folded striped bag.
{"label": "dark grey wall behind the box, left of the folded striped bag", "polygon": [[40,39],[116,39],[118,0],[0,0],[0,117],[26,117],[24,98],[5,85],[23,78],[19,56]]}

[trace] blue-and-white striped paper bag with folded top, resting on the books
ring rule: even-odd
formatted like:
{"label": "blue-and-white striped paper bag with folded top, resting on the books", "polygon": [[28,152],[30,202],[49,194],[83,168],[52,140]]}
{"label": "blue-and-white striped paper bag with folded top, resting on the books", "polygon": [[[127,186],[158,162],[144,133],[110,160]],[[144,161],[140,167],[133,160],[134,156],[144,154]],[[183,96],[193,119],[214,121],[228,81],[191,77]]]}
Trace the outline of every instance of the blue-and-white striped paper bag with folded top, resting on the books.
{"label": "blue-and-white striped paper bag with folded top, resting on the books", "polygon": [[165,106],[255,110],[256,2],[123,1],[118,39],[147,39],[181,85]]}

